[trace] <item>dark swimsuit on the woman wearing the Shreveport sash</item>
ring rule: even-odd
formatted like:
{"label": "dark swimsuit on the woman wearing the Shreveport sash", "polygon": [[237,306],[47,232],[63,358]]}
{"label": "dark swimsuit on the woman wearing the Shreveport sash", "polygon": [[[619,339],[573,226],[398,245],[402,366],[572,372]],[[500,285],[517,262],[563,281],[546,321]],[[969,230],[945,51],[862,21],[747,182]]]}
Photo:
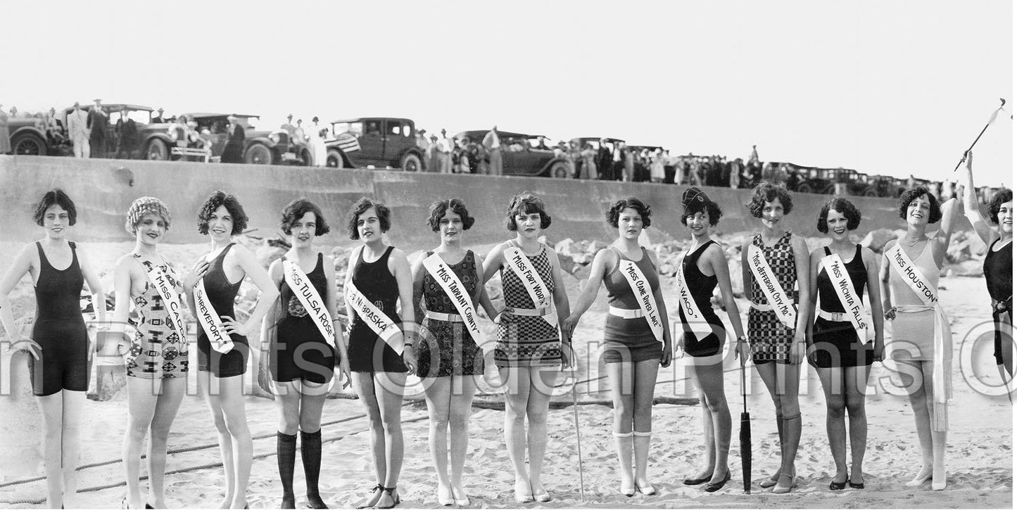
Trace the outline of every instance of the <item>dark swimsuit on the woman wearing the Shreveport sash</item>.
{"label": "dark swimsuit on the woman wearing the Shreveport sash", "polygon": [[[244,280],[241,278],[237,283],[230,283],[223,271],[223,261],[226,260],[226,253],[230,252],[234,243],[230,242],[230,245],[226,246],[226,249],[220,251],[216,260],[212,261],[212,264],[208,265],[208,272],[205,273],[202,280],[204,280],[204,290],[208,293],[208,301],[216,308],[216,311],[220,316],[237,319],[233,311],[233,302],[236,300],[240,284]],[[212,348],[212,342],[203,329],[198,330],[198,370],[208,370],[216,378],[232,378],[247,372],[247,355],[250,352],[250,348],[247,346],[247,337],[234,333],[230,335],[230,339],[233,340],[233,349],[224,354]]]}

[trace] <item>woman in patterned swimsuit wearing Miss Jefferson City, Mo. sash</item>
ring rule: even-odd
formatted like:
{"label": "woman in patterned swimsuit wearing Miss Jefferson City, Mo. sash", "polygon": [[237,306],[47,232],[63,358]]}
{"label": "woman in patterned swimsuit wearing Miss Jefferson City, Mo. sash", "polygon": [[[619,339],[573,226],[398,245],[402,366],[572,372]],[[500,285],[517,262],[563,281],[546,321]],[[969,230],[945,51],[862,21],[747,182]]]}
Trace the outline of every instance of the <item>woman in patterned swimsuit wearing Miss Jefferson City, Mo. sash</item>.
{"label": "woman in patterned swimsuit wearing Miss Jefferson City, Mo. sash", "polygon": [[[780,468],[760,483],[786,494],[794,488],[794,457],[801,438],[801,412],[798,409],[798,373],[805,354],[807,316],[794,315],[794,327],[781,323],[771,299],[763,292],[751,270],[749,247],[756,246],[777,279],[776,285],[792,304],[798,303],[798,290],[809,290],[809,246],[805,239],[784,231],[784,216],[791,213],[791,195],[782,185],[763,182],[753,190],[747,205],[753,217],[763,224],[751,243],[741,247],[741,279],[749,291],[749,345],[753,362],[777,411],[777,434],[780,438]],[[796,282],[796,283],[795,283]],[[797,287],[795,287],[797,284]],[[809,294],[803,294],[809,302]],[[798,310],[809,311],[809,304],[798,304]]]}

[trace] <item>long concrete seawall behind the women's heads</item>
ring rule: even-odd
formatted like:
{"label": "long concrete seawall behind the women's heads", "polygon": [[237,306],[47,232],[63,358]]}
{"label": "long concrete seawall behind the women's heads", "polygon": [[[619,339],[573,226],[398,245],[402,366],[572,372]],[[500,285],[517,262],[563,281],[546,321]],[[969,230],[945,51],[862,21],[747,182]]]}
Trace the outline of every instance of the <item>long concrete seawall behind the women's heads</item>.
{"label": "long concrete seawall behind the women's heads", "polygon": [[[469,243],[480,244],[511,237],[502,219],[508,198],[523,190],[543,197],[552,218],[548,238],[610,240],[614,231],[604,211],[615,200],[637,196],[651,205],[652,226],[675,238],[684,238],[679,194],[684,186],[651,183],[580,181],[553,178],[439,175],[384,170],[339,170],[289,166],[204,164],[192,162],[119,161],[61,157],[0,156],[0,240],[38,238],[32,211],[41,195],[61,187],[74,200],[78,222],[72,238],[78,240],[129,240],[123,229],[130,202],[157,196],[174,216],[168,242],[201,242],[195,217],[208,193],[216,189],[240,198],[248,228],[255,234],[278,231],[280,213],[291,200],[307,196],[324,211],[332,233],[325,244],[350,243],[346,214],[361,196],[383,202],[393,210],[393,243],[410,250],[436,241],[426,224],[427,208],[440,198],[461,197],[476,218]],[[750,190],[704,187],[724,212],[718,231],[756,231],[759,222],[742,207]],[[794,193],[794,207],[786,225],[795,233],[819,236],[816,217],[830,196]],[[896,198],[850,196],[863,218],[860,233],[877,228],[903,228]],[[967,227],[967,221],[960,224]]]}

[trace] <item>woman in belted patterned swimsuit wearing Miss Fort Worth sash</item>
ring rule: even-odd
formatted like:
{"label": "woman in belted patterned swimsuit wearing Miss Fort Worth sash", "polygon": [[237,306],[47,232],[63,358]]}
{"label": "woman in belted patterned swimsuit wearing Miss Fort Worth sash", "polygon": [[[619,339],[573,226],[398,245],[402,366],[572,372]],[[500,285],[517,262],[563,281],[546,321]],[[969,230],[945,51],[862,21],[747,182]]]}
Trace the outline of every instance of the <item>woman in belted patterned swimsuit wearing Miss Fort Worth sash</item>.
{"label": "woman in belted patterned swimsuit wearing Miss Fort Worth sash", "polygon": [[[494,246],[487,253],[481,280],[487,283],[494,273],[501,271],[505,309],[495,319],[498,345],[494,361],[502,383],[507,386],[505,445],[516,470],[516,501],[520,503],[551,500],[540,481],[547,448],[547,408],[558,369],[572,362],[572,346],[558,336],[558,326],[569,318],[569,297],[561,282],[558,255],[538,240],[550,225],[551,217],[544,210],[541,198],[530,192],[513,197],[506,210],[505,228],[516,232],[516,238]],[[538,308],[515,271],[506,269],[504,251],[511,247],[525,254],[536,269],[552,296],[553,307]],[[555,310],[556,319],[551,317]],[[556,322],[551,324],[548,319]],[[529,420],[529,433],[524,420]]]}

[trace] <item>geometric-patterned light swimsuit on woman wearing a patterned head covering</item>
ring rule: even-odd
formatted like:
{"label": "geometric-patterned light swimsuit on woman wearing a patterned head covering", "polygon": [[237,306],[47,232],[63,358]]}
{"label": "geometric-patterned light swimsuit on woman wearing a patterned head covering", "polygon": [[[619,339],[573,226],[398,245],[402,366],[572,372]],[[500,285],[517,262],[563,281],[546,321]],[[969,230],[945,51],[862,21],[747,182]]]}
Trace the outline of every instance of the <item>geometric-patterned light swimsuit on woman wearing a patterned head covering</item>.
{"label": "geometric-patterned light swimsuit on woman wearing a patterned head covering", "polygon": [[[139,254],[134,259],[147,271],[152,262],[142,261]],[[169,264],[159,266],[173,293],[183,294],[183,284],[177,279],[177,274]],[[166,378],[185,378],[187,373],[187,341],[180,340],[173,319],[166,309],[163,296],[147,279],[145,274],[144,290],[140,295],[131,298],[138,312],[137,331],[130,343],[130,350],[124,363],[127,376],[158,380]],[[184,308],[183,301],[180,307]]]}

